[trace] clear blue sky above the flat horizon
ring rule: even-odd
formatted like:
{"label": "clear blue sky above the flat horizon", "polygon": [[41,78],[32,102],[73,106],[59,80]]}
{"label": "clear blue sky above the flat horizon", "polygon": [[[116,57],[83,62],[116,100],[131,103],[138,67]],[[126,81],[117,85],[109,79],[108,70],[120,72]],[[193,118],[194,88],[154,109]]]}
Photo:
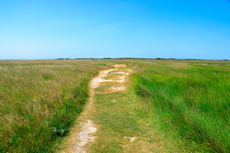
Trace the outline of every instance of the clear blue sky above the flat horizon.
{"label": "clear blue sky above the flat horizon", "polygon": [[0,59],[82,57],[230,59],[230,1],[0,1]]}

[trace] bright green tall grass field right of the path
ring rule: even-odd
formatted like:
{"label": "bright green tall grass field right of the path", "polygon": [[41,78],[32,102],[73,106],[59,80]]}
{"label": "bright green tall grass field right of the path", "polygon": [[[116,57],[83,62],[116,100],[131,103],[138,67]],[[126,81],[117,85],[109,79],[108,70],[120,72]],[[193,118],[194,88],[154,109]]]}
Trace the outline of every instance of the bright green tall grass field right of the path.
{"label": "bright green tall grass field right of the path", "polygon": [[135,70],[135,92],[167,143],[181,152],[230,152],[230,62],[152,61]]}

